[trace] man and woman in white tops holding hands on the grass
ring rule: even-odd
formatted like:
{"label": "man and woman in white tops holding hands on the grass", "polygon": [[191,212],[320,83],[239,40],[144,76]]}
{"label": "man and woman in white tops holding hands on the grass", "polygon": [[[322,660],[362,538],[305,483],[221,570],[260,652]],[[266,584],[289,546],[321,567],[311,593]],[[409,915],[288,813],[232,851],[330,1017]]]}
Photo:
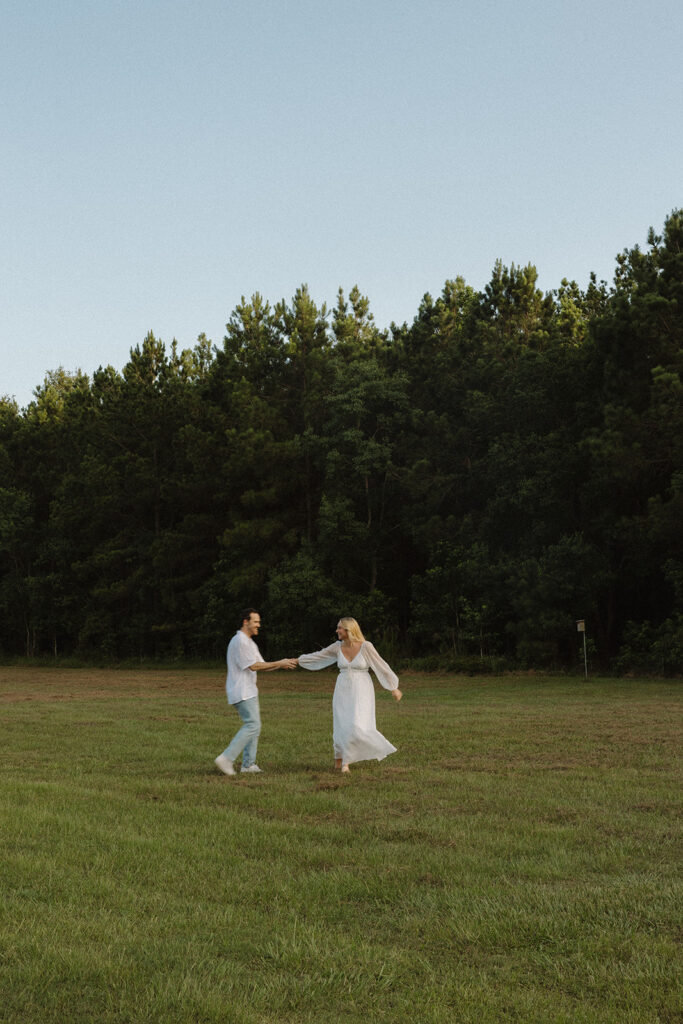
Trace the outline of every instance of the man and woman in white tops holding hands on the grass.
{"label": "man and woman in white tops holding hands on the grass", "polygon": [[273,672],[275,669],[308,669],[311,672],[336,663],[339,669],[334,697],[333,742],[335,767],[348,772],[355,761],[381,761],[396,750],[375,724],[375,689],[370,678],[373,670],[382,686],[395,700],[402,694],[398,677],[391,671],[366,640],[355,618],[340,618],[337,624],[338,640],[299,657],[284,657],[280,662],[264,662],[254,637],[261,628],[261,616],[255,608],[246,608],[241,616],[241,627],[227,647],[227,702],[232,705],[242,719],[242,728],[232,737],[222,754],[215,760],[225,775],[236,775],[234,762],[242,754],[242,771],[256,774],[261,769],[256,764],[256,749],[261,731],[258,707],[256,673]]}

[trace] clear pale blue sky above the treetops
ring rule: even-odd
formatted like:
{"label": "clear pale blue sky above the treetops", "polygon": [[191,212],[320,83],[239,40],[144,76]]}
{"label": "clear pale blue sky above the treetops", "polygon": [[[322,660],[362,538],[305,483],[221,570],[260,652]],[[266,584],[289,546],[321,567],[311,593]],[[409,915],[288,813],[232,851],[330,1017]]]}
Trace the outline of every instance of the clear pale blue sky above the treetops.
{"label": "clear pale blue sky above the treetops", "polygon": [[683,205],[682,53],[680,0],[0,0],[0,394],[304,282],[610,281]]}

